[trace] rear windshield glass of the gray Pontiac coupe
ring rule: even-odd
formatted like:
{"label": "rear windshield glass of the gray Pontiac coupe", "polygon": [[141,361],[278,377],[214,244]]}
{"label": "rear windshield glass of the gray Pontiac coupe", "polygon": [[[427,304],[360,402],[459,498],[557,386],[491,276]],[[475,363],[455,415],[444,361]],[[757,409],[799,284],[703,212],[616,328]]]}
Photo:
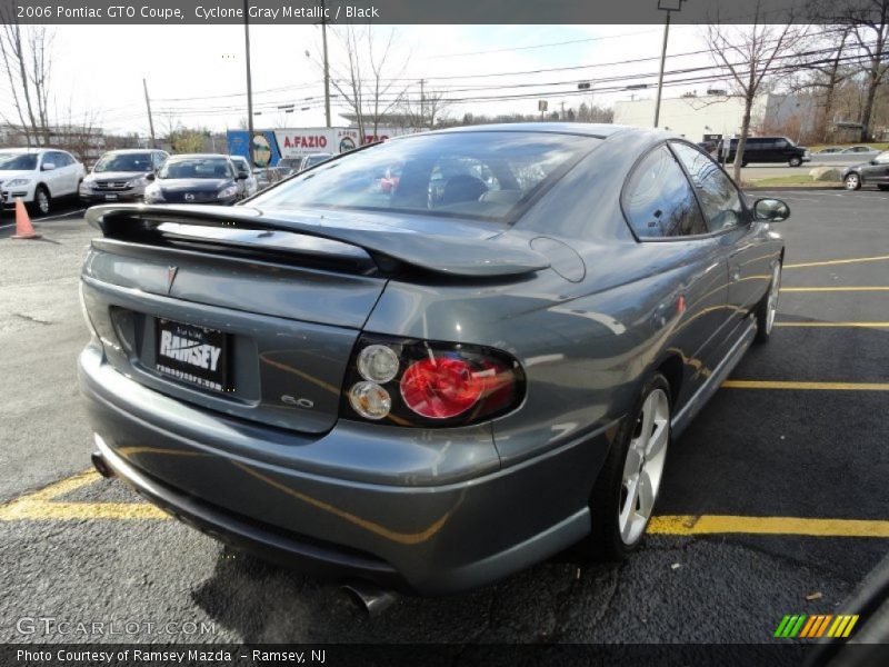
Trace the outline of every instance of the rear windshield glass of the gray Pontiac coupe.
{"label": "rear windshield glass of the gray Pontiac coupe", "polygon": [[416,135],[320,165],[257,205],[501,220],[599,142],[549,132]]}

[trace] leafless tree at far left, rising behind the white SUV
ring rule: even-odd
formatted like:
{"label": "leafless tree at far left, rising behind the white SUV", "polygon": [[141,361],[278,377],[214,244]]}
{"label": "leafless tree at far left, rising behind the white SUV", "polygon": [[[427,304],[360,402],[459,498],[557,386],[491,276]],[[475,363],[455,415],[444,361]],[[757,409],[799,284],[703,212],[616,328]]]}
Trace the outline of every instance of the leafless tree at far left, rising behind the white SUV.
{"label": "leafless tree at far left, rising behind the white SUV", "polygon": [[0,7],[0,63],[18,122],[6,112],[0,117],[17,126],[29,146],[46,146],[50,140],[52,33],[44,26],[19,24],[12,12],[11,4]]}

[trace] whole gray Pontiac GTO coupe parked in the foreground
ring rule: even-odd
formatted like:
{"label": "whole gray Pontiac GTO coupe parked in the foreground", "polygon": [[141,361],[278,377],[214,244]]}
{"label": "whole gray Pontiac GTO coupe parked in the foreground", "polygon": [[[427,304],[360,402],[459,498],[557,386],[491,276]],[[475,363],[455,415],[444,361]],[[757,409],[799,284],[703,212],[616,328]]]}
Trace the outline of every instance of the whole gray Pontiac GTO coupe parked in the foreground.
{"label": "whole gray Pontiac GTO coupe parked in the foreground", "polygon": [[682,139],[561,123],[396,139],[233,208],[92,208],[93,461],[386,589],[621,558],[671,438],[769,337],[788,216]]}

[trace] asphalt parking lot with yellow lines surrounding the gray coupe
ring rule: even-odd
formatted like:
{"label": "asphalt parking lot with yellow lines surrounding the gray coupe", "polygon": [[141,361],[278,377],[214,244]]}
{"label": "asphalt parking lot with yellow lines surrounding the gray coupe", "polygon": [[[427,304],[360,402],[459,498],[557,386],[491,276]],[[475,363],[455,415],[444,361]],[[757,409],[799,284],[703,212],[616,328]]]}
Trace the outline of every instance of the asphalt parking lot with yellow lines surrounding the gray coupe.
{"label": "asphalt parking lot with yellow lines surrounding the gray coupe", "polygon": [[[786,614],[836,613],[889,548],[889,193],[776,196],[792,209],[776,226],[778,329],[673,444],[641,551],[623,565],[566,555],[377,618],[84,472],[77,278],[92,230],[0,229],[0,641],[769,643]],[[140,629],[19,623],[36,617]],[[180,625],[146,625],[168,623]]]}

